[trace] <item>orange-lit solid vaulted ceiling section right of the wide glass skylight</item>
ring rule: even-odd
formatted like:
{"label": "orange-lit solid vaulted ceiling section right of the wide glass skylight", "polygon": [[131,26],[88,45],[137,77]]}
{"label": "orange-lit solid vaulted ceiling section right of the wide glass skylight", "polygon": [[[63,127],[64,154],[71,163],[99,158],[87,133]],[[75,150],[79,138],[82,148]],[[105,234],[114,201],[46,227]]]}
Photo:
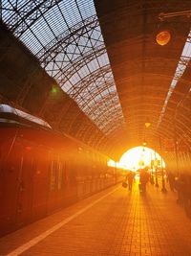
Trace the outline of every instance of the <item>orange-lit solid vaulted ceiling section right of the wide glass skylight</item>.
{"label": "orange-lit solid vaulted ceiling section right of the wide glass skylight", "polygon": [[[173,1],[172,5],[172,1],[96,0],[127,141],[132,146],[146,140],[156,147],[159,137],[173,141],[175,135],[191,135],[191,15],[179,15],[183,11],[191,13],[190,1]],[[161,20],[160,13],[171,16]],[[172,35],[165,46],[155,40],[162,28]],[[186,41],[189,53],[185,57]],[[184,73],[177,70],[184,68]],[[150,128],[145,127],[146,122],[151,123]]]}

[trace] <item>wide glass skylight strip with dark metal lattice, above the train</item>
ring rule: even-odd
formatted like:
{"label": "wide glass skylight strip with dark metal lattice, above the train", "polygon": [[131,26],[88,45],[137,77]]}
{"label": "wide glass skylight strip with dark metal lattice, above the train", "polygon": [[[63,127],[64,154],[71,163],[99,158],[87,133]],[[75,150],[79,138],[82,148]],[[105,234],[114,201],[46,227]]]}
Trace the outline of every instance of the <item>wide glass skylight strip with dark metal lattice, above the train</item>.
{"label": "wide glass skylight strip with dark metal lattice, above the train", "polygon": [[98,128],[124,126],[93,0],[2,0],[1,16]]}

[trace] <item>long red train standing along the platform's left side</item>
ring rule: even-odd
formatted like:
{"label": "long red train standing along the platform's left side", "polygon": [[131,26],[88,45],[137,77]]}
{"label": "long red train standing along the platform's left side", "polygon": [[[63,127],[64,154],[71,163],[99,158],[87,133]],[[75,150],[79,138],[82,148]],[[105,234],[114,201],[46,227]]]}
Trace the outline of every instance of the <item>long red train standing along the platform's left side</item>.
{"label": "long red train standing along the platform's left side", "polygon": [[0,236],[121,181],[109,157],[0,105]]}

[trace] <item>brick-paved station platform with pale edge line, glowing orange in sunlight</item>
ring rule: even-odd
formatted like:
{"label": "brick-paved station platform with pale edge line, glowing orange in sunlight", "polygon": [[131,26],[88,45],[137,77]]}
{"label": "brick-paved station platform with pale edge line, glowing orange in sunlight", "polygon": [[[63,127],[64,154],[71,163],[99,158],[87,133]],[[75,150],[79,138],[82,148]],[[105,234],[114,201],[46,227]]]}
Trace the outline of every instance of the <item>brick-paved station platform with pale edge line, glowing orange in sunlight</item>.
{"label": "brick-paved station platform with pale edge line, glowing orange in sunlight", "polygon": [[190,256],[191,221],[176,198],[117,185],[1,238],[0,255]]}

